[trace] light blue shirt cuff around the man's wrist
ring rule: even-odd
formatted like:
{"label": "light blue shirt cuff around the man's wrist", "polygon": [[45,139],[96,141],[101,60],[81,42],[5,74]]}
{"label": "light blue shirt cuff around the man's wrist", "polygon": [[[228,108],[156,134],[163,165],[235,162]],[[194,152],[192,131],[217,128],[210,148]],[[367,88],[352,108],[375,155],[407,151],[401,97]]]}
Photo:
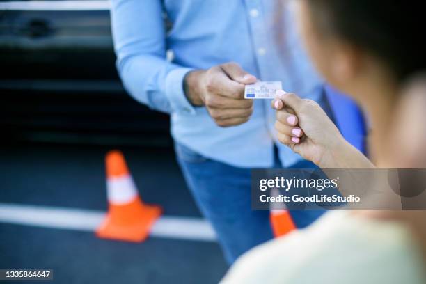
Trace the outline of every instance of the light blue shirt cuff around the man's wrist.
{"label": "light blue shirt cuff around the man's wrist", "polygon": [[192,104],[188,101],[187,96],[184,93],[184,77],[192,71],[191,68],[177,68],[168,72],[166,77],[166,97],[172,111],[196,114],[196,111]]}

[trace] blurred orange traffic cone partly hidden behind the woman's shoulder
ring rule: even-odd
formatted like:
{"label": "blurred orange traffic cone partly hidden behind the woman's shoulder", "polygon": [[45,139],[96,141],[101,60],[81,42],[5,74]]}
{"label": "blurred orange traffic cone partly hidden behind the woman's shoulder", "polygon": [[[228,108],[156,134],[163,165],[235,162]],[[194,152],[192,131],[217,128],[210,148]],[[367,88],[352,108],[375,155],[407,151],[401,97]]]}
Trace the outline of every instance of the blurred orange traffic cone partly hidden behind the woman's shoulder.
{"label": "blurred orange traffic cone partly hidden behind the woman's shoulder", "polygon": [[[279,196],[278,189],[271,189],[271,196]],[[269,220],[274,237],[281,237],[292,232],[292,230],[296,230],[292,216],[283,203],[272,203],[269,211]]]}

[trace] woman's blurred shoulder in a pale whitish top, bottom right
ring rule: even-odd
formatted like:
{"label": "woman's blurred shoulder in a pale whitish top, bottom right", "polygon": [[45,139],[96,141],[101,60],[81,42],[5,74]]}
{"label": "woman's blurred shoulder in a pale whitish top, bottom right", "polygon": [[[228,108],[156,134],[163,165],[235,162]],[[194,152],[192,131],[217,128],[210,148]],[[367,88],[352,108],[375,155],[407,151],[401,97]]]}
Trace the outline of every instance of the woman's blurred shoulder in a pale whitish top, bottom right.
{"label": "woman's blurred shoulder in a pale whitish top, bottom right", "polygon": [[329,212],[242,255],[223,283],[425,283],[412,241],[399,223]]}

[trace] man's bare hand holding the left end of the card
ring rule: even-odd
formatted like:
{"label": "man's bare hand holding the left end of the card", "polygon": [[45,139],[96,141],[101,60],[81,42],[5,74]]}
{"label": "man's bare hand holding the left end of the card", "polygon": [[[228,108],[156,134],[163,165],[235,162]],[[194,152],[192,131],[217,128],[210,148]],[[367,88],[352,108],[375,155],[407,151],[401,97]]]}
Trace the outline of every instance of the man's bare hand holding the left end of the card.
{"label": "man's bare hand holding the left end of the card", "polygon": [[229,127],[245,123],[253,113],[253,100],[244,99],[244,86],[255,81],[237,63],[226,63],[189,72],[184,88],[191,104],[205,106],[216,125]]}

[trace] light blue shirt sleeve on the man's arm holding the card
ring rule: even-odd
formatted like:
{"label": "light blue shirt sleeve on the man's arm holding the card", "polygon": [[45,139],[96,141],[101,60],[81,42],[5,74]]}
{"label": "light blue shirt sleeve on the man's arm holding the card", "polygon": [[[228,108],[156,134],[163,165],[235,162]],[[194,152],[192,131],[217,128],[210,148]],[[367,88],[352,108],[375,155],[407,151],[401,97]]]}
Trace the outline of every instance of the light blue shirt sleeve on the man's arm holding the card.
{"label": "light blue shirt sleeve on the man's arm holding the card", "polygon": [[158,111],[194,114],[183,86],[191,68],[166,59],[161,1],[112,0],[111,27],[118,73],[130,95]]}

